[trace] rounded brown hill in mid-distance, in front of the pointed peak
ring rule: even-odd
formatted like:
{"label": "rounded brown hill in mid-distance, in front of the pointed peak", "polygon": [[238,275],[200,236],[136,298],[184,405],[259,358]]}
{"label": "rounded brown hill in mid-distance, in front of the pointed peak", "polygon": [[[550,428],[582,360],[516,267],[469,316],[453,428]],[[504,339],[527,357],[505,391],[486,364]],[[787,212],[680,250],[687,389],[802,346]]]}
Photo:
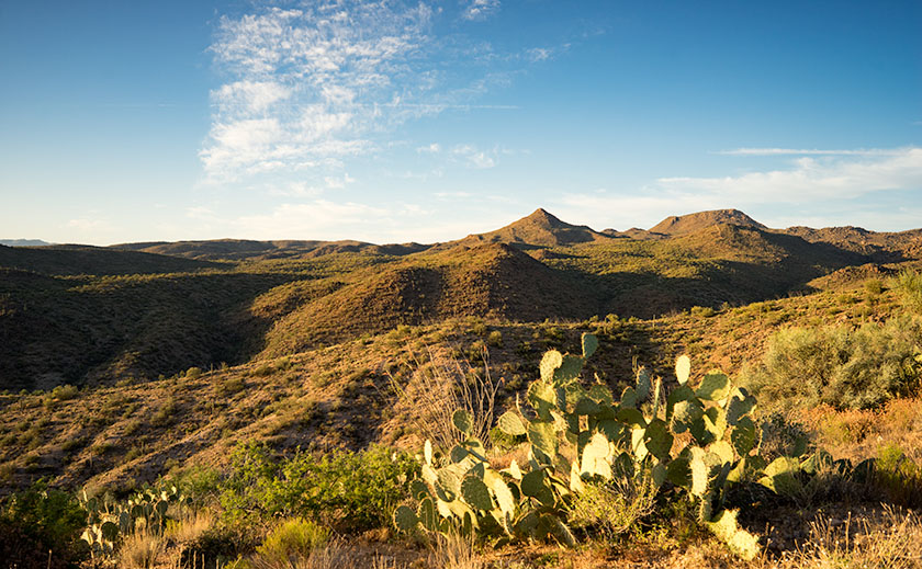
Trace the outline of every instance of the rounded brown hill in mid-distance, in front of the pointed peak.
{"label": "rounded brown hill in mid-distance, in front of the pointed peak", "polygon": [[416,257],[338,288],[280,319],[267,334],[267,353],[281,355],[378,333],[397,325],[477,316],[514,321],[581,319],[595,314],[578,286],[517,249],[457,246]]}

